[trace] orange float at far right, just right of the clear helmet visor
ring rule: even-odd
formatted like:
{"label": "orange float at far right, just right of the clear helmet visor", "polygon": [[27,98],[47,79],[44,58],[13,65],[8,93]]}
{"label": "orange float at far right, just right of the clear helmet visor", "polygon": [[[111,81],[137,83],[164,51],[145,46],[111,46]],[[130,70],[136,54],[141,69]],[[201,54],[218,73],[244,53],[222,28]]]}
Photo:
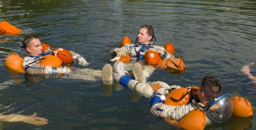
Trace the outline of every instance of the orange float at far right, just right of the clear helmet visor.
{"label": "orange float at far right, just right of the clear helmet visor", "polygon": [[253,107],[247,99],[234,96],[231,98],[233,102],[233,114],[240,117],[253,116]]}

